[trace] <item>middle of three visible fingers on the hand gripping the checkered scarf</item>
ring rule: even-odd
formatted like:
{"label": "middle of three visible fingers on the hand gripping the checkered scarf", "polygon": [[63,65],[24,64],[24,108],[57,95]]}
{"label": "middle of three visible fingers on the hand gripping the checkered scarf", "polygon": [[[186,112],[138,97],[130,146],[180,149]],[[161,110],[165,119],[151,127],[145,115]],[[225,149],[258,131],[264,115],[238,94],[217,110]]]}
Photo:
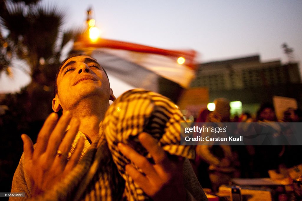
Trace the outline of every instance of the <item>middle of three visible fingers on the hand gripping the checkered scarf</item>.
{"label": "middle of three visible fingers on the hand gripping the checkered scarf", "polygon": [[153,168],[153,165],[139,153],[137,153],[130,146],[118,143],[118,149],[122,152],[124,156],[130,159],[137,167],[139,167],[148,177],[156,177],[157,173]]}

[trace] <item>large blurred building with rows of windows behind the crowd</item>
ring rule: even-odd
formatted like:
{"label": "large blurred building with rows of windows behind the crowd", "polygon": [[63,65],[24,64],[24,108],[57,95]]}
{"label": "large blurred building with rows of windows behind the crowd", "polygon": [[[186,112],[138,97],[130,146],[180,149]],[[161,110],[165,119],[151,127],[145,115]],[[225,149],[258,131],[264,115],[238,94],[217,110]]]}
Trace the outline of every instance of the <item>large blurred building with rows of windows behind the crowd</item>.
{"label": "large blurred building with rows of windows behind the crowd", "polygon": [[198,65],[190,87],[207,87],[210,102],[219,97],[241,101],[243,112],[255,113],[273,96],[295,98],[302,106],[302,90],[297,63],[261,62],[259,55],[214,61]]}

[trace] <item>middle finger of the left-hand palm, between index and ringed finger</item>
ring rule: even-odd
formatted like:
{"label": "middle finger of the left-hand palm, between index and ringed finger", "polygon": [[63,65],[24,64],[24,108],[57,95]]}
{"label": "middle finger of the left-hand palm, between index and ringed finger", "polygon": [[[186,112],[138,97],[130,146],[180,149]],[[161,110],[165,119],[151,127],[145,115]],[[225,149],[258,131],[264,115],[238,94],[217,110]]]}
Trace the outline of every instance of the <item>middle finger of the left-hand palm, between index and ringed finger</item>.
{"label": "middle finger of the left-hand palm, between index and ringed finger", "polygon": [[69,111],[66,111],[59,119],[55,129],[51,133],[46,149],[48,160],[54,159],[54,157],[56,156],[57,150],[65,135],[65,131],[71,120],[71,117],[71,113]]}

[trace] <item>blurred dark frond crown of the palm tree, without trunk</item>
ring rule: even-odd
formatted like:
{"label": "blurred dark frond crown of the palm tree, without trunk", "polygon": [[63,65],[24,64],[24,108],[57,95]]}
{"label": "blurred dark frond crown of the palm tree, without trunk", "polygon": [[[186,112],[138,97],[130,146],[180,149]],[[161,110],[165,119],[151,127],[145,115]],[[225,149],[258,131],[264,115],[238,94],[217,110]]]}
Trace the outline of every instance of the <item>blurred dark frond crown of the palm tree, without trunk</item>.
{"label": "blurred dark frond crown of the palm tree, without trunk", "polygon": [[8,33],[6,37],[0,35],[2,57],[7,62],[16,58],[25,61],[31,76],[44,65],[57,64],[63,46],[72,39],[71,31],[62,31],[65,12],[57,7],[44,8],[39,0],[1,0],[1,4],[2,33]]}

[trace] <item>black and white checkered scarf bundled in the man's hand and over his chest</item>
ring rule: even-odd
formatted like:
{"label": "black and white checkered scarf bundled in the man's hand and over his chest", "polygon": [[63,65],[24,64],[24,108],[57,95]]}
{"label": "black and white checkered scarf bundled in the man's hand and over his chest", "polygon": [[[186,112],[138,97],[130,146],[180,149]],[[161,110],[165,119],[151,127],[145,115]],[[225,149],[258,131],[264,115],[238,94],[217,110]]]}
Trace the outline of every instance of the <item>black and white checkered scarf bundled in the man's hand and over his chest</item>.
{"label": "black and white checkered scarf bundled in the man's hand and over his chest", "polygon": [[121,154],[117,144],[131,146],[152,163],[152,157],[137,138],[139,133],[146,132],[159,141],[168,155],[193,159],[194,146],[180,145],[181,122],[185,120],[178,106],[165,96],[141,89],[125,92],[108,108],[100,128],[104,134],[92,143],[70,174],[36,199],[149,200],[125,172],[131,161]]}

